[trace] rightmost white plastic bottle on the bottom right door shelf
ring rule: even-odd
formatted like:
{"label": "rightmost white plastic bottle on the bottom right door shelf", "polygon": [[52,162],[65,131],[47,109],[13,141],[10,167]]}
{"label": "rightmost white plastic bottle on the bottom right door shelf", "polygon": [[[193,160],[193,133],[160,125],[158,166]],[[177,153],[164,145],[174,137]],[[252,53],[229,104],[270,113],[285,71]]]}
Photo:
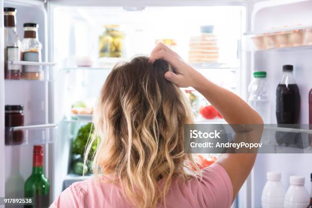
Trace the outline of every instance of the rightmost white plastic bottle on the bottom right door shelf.
{"label": "rightmost white plastic bottle on the bottom right door shelf", "polygon": [[284,207],[306,208],[309,205],[310,196],[304,187],[304,177],[298,175],[290,176],[290,187],[288,188]]}

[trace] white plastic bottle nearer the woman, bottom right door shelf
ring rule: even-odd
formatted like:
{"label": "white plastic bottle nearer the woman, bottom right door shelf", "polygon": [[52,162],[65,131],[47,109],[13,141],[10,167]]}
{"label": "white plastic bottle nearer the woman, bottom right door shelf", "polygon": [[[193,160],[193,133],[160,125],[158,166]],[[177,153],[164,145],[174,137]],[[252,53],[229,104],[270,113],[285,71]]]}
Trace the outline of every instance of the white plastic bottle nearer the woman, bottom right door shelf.
{"label": "white plastic bottle nearer the woman, bottom right door shelf", "polygon": [[286,189],[280,181],[279,172],[267,172],[267,183],[262,191],[263,208],[283,208]]}

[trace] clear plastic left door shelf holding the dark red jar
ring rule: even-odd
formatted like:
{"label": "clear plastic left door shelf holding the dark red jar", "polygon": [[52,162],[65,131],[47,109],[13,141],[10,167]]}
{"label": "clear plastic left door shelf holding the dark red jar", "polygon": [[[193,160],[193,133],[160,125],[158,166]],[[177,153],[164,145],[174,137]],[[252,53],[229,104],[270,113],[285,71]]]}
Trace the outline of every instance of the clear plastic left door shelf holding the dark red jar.
{"label": "clear plastic left door shelf holding the dark red jar", "polygon": [[56,124],[40,124],[7,127],[5,131],[6,145],[27,146],[53,143],[50,133],[55,131]]}

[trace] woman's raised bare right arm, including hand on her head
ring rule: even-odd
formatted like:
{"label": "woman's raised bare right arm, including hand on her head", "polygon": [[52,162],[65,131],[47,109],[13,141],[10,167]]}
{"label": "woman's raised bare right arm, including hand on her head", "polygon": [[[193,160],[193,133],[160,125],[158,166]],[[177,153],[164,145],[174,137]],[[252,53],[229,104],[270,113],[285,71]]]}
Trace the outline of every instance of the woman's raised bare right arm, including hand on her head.
{"label": "woman's raised bare right arm, including hand on her head", "polygon": [[[168,61],[174,68],[166,72],[168,81],[179,87],[193,87],[200,92],[221,113],[229,124],[263,124],[261,116],[236,94],[210,82],[202,74],[184,62],[174,51],[159,43],[150,55],[150,63],[157,59]],[[249,135],[261,138],[262,131],[257,129]],[[222,154],[216,161],[228,173],[233,186],[233,200],[248,177],[256,153]]]}

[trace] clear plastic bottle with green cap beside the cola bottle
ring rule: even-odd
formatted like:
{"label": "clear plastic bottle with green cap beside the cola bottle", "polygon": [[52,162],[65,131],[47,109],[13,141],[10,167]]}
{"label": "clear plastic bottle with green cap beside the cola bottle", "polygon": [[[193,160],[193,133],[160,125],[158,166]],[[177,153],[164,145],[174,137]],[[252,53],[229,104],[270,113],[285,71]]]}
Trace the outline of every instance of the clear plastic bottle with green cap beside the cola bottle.
{"label": "clear plastic bottle with green cap beside the cola bottle", "polygon": [[248,86],[249,105],[262,117],[264,123],[270,123],[270,100],[268,94],[267,72],[254,71],[253,80]]}

